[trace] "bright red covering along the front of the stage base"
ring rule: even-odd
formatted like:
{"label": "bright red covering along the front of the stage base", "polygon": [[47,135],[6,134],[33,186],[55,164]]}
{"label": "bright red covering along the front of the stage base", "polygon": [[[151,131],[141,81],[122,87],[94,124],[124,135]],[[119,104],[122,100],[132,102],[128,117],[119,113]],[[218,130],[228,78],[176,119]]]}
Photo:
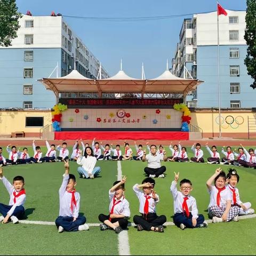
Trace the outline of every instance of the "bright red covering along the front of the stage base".
{"label": "bright red covering along the front of the stage base", "polygon": [[76,131],[54,132],[55,140],[189,140],[189,132],[166,131]]}

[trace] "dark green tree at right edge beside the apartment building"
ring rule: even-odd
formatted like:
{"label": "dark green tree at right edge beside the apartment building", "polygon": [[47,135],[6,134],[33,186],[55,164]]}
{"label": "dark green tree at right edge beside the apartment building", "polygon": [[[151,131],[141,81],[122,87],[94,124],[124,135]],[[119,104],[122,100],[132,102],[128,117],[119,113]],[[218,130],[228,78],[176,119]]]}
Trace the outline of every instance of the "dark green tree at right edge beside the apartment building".
{"label": "dark green tree at right edge beside the apartment building", "polygon": [[253,89],[256,88],[256,1],[247,0],[246,9],[246,28],[244,39],[247,42],[247,55],[244,59],[244,63],[247,67],[248,75],[250,75],[254,81],[250,85]]}

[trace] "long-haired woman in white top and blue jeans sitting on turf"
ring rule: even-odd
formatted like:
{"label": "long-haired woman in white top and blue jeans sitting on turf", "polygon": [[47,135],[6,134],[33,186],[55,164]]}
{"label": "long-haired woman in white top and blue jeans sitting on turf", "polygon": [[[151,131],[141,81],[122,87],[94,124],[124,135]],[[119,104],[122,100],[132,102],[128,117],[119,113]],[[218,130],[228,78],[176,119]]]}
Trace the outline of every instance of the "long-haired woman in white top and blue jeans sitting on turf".
{"label": "long-haired woman in white top and blue jeans sitting on turf", "polygon": [[[80,152],[80,154],[81,153],[82,152]],[[97,158],[93,156],[93,150],[91,147],[86,147],[84,151],[84,156],[81,154],[77,158],[76,162],[77,164],[82,165],[82,167],[77,168],[80,178],[94,179],[94,177],[97,177],[100,174],[100,167],[95,167],[95,164],[97,163]]]}

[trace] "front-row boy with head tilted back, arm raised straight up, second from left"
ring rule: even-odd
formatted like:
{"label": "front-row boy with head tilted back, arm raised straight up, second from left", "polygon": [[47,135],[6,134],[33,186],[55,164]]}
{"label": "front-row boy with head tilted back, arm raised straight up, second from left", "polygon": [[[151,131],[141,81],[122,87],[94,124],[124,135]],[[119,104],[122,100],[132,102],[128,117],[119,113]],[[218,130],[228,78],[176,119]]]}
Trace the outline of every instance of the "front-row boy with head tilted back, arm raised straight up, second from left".
{"label": "front-row boy with head tilted back, arm raised straight up, second from left", "polygon": [[68,160],[64,160],[65,173],[63,181],[59,189],[60,212],[59,217],[55,220],[55,224],[59,233],[65,231],[81,231],[89,230],[89,226],[85,224],[86,218],[78,216],[80,207],[80,194],[76,191],[76,177],[69,174]]}

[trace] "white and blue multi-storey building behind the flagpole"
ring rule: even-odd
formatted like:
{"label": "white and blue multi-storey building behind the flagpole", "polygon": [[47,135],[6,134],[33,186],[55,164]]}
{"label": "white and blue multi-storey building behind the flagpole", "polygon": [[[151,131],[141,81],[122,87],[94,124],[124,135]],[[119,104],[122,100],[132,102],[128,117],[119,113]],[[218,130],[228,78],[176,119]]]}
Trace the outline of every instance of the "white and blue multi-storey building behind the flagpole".
{"label": "white and blue multi-storey building behind the flagpole", "polygon": [[[220,102],[221,108],[255,107],[255,91],[244,65],[245,11],[226,10],[219,15]],[[197,78],[203,84],[187,96],[188,107],[216,108],[218,100],[217,12],[194,14],[185,19],[180,41],[172,59],[174,75]]]}

